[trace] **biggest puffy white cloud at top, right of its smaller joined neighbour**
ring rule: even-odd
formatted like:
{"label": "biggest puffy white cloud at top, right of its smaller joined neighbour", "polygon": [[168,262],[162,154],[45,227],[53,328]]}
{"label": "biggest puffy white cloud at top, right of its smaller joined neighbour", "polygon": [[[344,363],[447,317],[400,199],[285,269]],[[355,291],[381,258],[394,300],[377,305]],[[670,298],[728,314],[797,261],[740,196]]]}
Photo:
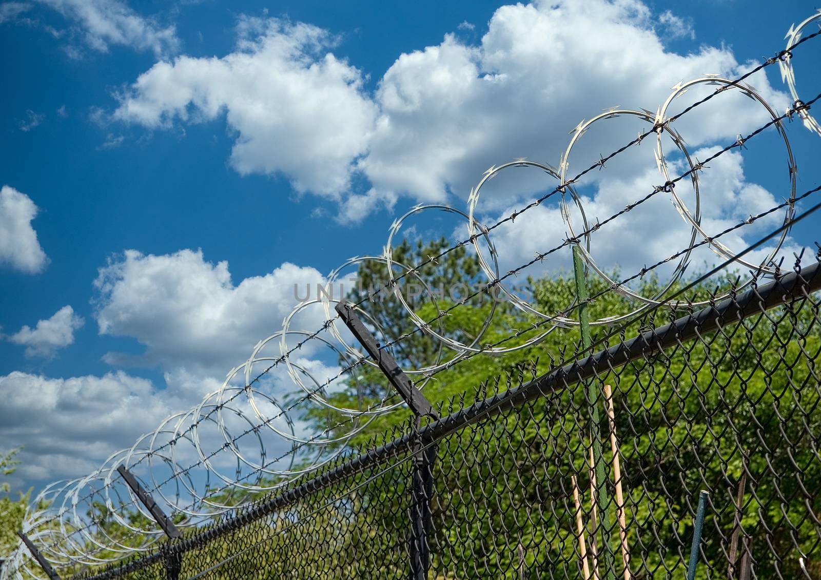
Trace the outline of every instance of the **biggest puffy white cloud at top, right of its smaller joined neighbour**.
{"label": "biggest puffy white cloud at top, right of its smaller joined neighbour", "polygon": [[[703,47],[687,56],[667,52],[640,2],[501,7],[479,46],[447,35],[438,46],[397,59],[379,84],[381,115],[359,167],[377,191],[429,201],[447,200],[452,192],[465,199],[493,164],[524,156],[557,165],[568,131],[604,108],[655,111],[677,81],[705,72],[732,76],[737,68],[727,48]],[[786,104],[764,76],[753,82],[771,102]],[[750,99],[714,99],[709,119],[684,117],[677,129],[694,145],[734,138],[742,127],[764,120],[757,107]],[[623,145],[640,128],[608,128],[584,140],[574,150],[582,160],[576,169],[615,149],[610,145]],[[532,181],[511,184],[494,196],[509,200],[538,187]]]}

